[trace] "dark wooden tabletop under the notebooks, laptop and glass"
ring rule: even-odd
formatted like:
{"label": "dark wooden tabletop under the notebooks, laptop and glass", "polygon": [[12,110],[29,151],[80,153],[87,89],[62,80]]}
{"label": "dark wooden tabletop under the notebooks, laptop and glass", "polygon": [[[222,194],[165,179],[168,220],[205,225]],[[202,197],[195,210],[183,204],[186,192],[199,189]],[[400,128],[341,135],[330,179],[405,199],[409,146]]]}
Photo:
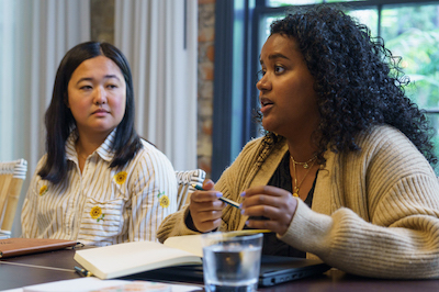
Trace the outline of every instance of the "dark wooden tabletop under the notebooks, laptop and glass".
{"label": "dark wooden tabletop under the notebooks, laptop and glass", "polygon": [[[64,249],[30,256],[0,260],[0,291],[25,285],[76,279],[80,276],[74,270],[79,266],[74,260],[75,250]],[[79,266],[80,267],[80,266]],[[139,273],[123,279],[154,280],[148,273]],[[198,282],[196,284],[202,284]],[[283,291],[439,291],[439,280],[380,280],[356,277],[339,270],[329,270],[324,274],[301,279],[279,285],[263,288],[264,292]]]}

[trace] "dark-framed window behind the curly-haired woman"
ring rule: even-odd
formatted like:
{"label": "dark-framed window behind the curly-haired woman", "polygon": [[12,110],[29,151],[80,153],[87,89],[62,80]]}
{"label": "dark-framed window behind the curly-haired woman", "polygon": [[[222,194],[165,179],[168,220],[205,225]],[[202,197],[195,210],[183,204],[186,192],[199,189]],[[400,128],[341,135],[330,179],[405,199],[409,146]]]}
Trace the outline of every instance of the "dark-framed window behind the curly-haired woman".
{"label": "dark-framed window behind the curly-haired woman", "polygon": [[[347,13],[367,24],[372,34],[382,36],[395,56],[403,57],[405,74],[410,78],[407,96],[427,111],[437,133],[435,144],[439,145],[439,1],[224,0],[216,2],[215,52],[228,52],[229,56],[215,56],[214,180],[246,142],[260,135],[258,125],[251,122],[251,111],[258,102],[258,56],[269,24],[284,16],[292,4],[324,2],[349,8]],[[230,23],[230,19],[234,25],[227,29],[225,23]],[[439,147],[437,151],[439,156]]]}

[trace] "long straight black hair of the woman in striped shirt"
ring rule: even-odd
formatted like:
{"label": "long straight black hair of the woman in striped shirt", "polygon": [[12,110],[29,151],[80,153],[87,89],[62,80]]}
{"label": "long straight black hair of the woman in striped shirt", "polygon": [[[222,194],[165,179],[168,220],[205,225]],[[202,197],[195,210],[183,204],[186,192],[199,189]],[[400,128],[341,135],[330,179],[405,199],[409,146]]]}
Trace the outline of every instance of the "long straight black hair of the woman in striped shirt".
{"label": "long straight black hair of the woman in striped shirt", "polygon": [[121,167],[130,161],[139,148],[142,142],[134,128],[134,91],[133,78],[127,59],[115,46],[108,43],[86,42],[76,45],[64,56],[56,72],[50,104],[46,111],[47,159],[38,175],[53,183],[63,181],[67,176],[66,141],[76,128],[76,121],[67,106],[68,82],[78,66],[90,58],[105,56],[121,69],[126,82],[125,114],[116,127],[115,138],[111,148],[115,156],[110,167]]}

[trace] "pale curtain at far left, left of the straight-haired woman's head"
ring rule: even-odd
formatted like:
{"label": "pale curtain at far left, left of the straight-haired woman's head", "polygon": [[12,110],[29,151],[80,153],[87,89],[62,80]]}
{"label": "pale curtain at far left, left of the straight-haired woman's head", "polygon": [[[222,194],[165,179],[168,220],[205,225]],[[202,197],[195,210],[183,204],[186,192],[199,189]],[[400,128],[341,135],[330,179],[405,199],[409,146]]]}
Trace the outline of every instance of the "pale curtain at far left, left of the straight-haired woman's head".
{"label": "pale curtain at far left, left of the straight-haired woman's head", "polygon": [[[27,160],[12,236],[36,162],[45,151],[44,113],[65,53],[90,40],[90,0],[0,0],[0,160]],[[4,26],[5,25],[5,26]]]}

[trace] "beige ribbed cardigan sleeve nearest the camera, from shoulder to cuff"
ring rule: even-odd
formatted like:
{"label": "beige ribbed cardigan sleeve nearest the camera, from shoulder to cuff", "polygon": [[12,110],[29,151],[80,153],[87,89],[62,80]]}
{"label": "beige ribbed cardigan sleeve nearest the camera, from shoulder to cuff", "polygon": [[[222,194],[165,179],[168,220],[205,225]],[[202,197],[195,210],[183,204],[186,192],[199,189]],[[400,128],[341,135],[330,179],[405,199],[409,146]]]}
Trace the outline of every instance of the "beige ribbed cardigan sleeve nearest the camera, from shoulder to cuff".
{"label": "beige ribbed cardigan sleeve nearest the camera, from shoulder to cuff", "polygon": [[360,143],[360,154],[338,156],[333,166],[328,160],[333,183],[319,195],[331,212],[317,213],[297,200],[280,239],[359,276],[439,278],[436,175],[396,130],[381,127]]}

